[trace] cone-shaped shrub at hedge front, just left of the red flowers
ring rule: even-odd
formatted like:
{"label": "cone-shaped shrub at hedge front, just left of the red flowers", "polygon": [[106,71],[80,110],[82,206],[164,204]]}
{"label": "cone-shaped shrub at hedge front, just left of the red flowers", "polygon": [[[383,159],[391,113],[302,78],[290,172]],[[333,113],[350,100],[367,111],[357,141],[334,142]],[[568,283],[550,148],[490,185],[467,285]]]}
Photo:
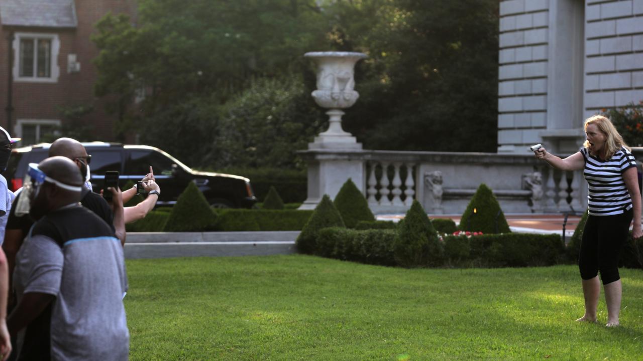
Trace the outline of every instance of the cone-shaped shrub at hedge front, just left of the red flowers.
{"label": "cone-shaped shrub at hedge front, just left of the red flowers", "polygon": [[398,225],[394,242],[395,261],[403,267],[438,265],[442,244],[420,202],[413,200],[411,208]]}

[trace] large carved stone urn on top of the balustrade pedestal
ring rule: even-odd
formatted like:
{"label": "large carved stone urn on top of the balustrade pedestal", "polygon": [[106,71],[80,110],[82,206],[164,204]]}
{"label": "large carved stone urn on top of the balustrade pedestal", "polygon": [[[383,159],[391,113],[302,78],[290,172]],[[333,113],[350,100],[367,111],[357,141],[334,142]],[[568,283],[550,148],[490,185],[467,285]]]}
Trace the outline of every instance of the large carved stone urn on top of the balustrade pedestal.
{"label": "large carved stone urn on top of the balustrade pedestal", "polygon": [[317,105],[330,109],[328,130],[315,137],[309,148],[349,148],[361,149],[354,136],[341,128],[340,109],[351,107],[359,98],[355,86],[355,64],[367,55],[349,51],[318,51],[305,53],[304,57],[314,58],[317,62],[317,89],[312,92]]}

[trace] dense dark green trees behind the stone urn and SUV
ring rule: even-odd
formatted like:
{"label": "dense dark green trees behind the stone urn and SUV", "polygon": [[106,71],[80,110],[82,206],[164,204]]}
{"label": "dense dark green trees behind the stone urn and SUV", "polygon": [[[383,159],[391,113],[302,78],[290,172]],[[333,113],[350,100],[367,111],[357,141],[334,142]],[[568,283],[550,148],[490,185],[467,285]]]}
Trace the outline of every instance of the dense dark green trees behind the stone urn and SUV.
{"label": "dense dark green trees behind the stone urn and SUV", "polygon": [[141,142],[192,166],[302,166],[295,151],[326,119],[303,53],[341,50],[369,56],[343,121],[365,148],[496,150],[495,0],[138,3],[136,19],[108,14],[93,36],[116,139],[144,129]]}

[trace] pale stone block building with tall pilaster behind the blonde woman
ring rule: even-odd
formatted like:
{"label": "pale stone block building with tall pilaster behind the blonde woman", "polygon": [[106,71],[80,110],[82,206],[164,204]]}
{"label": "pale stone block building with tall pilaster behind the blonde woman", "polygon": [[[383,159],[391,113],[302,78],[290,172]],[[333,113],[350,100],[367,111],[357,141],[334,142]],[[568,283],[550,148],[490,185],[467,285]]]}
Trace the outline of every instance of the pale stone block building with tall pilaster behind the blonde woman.
{"label": "pale stone block building with tall pilaster behind the blonde woman", "polygon": [[583,121],[643,100],[643,0],[500,3],[498,152],[569,154]]}

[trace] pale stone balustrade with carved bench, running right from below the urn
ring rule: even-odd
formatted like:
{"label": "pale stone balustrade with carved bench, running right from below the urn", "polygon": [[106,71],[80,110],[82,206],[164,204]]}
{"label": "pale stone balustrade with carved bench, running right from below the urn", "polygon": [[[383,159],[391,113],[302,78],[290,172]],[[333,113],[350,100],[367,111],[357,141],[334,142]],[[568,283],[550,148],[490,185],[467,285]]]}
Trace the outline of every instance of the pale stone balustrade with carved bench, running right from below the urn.
{"label": "pale stone balustrade with carved bench, running right from below the urn", "polygon": [[324,193],[334,198],[349,177],[376,214],[404,213],[413,199],[431,214],[460,214],[481,183],[493,190],[505,213],[583,211],[587,206],[581,171],[554,170],[533,155],[382,150],[300,154],[309,162],[309,200],[302,208],[314,207]]}

